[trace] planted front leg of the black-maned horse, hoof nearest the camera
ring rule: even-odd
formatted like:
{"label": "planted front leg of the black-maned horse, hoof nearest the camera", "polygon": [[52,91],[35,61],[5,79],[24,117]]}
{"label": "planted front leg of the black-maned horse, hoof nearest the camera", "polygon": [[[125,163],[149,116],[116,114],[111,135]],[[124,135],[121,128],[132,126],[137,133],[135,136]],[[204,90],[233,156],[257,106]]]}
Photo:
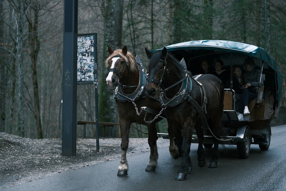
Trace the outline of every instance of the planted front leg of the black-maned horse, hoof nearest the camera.
{"label": "planted front leg of the black-maned horse, hoof nearest the camera", "polygon": [[186,180],[187,174],[192,173],[192,163],[189,156],[192,133],[193,132],[191,127],[186,128],[186,130],[183,132],[182,163],[175,180]]}

